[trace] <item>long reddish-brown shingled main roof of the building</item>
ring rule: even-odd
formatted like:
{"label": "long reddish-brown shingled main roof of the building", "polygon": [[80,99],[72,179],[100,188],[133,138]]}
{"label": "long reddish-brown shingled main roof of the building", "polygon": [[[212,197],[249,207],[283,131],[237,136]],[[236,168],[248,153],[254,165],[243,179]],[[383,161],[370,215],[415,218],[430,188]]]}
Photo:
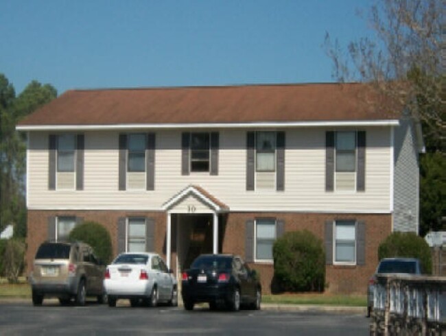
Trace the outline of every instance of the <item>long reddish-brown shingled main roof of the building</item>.
{"label": "long reddish-brown shingled main roof of the building", "polygon": [[376,102],[364,84],[71,90],[19,126],[395,119]]}

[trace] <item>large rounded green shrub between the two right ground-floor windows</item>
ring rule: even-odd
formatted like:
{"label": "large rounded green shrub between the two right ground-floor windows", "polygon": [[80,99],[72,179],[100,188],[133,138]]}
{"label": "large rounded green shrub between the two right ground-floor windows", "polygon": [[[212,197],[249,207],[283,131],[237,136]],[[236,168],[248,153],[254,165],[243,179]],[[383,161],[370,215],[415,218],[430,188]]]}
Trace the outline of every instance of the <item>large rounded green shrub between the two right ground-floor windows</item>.
{"label": "large rounded green shrub between the two right ground-floor windows", "polygon": [[287,232],[275,241],[274,280],[282,291],[322,291],[325,254],[322,241],[307,230]]}

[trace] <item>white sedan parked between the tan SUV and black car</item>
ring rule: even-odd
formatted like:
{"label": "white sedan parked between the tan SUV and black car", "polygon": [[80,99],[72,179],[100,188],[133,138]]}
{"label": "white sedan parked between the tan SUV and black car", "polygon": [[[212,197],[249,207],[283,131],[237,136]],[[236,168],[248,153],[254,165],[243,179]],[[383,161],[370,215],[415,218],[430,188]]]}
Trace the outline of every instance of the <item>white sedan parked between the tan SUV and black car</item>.
{"label": "white sedan parked between the tan SUV and black car", "polygon": [[126,252],[107,266],[104,288],[108,305],[129,299],[132,307],[140,302],[155,307],[159,301],[178,305],[178,283],[161,256],[155,253]]}

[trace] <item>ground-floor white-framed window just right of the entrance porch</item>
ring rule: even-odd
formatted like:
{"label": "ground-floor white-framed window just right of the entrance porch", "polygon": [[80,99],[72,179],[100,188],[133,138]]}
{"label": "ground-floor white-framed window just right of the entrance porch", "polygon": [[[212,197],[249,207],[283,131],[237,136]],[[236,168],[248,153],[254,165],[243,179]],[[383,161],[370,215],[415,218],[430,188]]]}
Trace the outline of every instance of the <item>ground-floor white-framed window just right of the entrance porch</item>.
{"label": "ground-floor white-framed window just right of the entrance porch", "polygon": [[272,245],[276,240],[276,220],[259,218],[255,221],[255,259],[272,261]]}

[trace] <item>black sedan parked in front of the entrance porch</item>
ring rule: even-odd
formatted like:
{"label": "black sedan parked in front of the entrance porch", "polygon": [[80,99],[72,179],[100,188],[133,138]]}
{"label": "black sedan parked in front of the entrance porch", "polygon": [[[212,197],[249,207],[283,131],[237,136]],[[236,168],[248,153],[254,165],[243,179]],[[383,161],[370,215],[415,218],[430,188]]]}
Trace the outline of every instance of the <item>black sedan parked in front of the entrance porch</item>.
{"label": "black sedan parked in front of the entrance porch", "polygon": [[238,311],[241,305],[260,309],[261,285],[254,270],[239,256],[202,254],[183,272],[184,307],[192,310],[198,302],[208,302],[210,309],[224,306]]}

